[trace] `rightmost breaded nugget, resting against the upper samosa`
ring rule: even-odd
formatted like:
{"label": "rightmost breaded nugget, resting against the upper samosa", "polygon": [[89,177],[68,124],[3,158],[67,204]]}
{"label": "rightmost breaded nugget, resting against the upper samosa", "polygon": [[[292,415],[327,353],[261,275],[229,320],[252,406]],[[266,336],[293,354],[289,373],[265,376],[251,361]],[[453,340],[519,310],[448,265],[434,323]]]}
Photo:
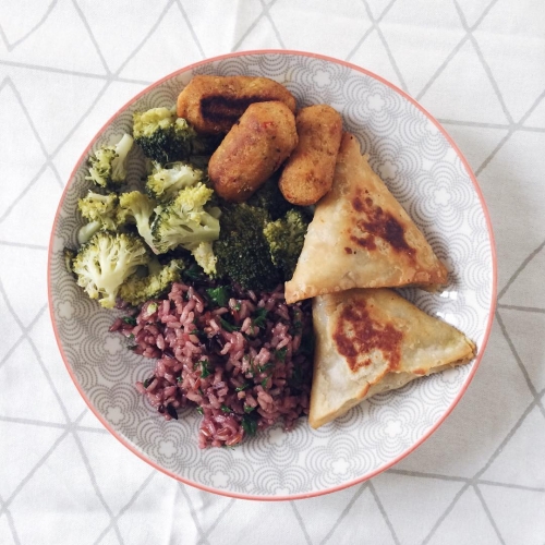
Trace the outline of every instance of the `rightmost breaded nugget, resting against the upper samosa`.
{"label": "rightmost breaded nugget, resting against the upper samosa", "polygon": [[342,119],[330,106],[315,105],[300,110],[295,123],[299,144],[283,167],[279,186],[287,201],[308,206],[331,189]]}

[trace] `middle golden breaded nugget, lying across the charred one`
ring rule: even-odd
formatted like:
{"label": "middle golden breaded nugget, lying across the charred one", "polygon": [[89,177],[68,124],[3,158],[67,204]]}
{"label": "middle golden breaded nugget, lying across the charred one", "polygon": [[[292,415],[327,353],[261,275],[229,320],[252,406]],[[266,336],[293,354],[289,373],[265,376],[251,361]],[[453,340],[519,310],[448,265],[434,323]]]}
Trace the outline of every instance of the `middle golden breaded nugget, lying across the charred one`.
{"label": "middle golden breaded nugget, lying across the charred one", "polygon": [[219,196],[241,203],[254,193],[298,144],[295,118],[283,102],[255,102],[210,157],[208,175]]}

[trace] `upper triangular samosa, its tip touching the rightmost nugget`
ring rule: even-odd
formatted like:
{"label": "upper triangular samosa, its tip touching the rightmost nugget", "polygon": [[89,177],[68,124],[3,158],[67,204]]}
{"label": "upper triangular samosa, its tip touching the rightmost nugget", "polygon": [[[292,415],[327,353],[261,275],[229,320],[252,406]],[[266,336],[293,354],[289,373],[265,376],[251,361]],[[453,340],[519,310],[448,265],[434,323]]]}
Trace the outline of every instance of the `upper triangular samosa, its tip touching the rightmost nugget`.
{"label": "upper triangular samosa, its tip touching the rightmost nugget", "polygon": [[351,288],[436,287],[447,269],[424,234],[343,133],[334,184],[316,205],[286,300]]}

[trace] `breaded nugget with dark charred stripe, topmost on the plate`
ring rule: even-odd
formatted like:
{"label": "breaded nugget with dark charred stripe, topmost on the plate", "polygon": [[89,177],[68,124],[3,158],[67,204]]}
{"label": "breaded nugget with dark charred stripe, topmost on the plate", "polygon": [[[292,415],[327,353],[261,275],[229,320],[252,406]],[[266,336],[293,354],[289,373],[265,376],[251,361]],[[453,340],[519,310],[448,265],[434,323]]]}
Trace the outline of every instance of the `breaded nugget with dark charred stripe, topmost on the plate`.
{"label": "breaded nugget with dark charred stripe, topmost on the plate", "polygon": [[178,96],[177,113],[197,132],[226,134],[251,104],[270,100],[295,112],[293,95],[268,77],[196,75]]}

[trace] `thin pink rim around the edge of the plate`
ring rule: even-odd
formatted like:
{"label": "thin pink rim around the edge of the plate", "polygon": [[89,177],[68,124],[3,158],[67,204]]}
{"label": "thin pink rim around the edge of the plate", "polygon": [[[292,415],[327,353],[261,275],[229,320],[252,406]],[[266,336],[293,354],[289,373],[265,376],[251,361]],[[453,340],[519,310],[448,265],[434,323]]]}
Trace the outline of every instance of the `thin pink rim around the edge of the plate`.
{"label": "thin pink rim around the edge of the plate", "polygon": [[52,302],[52,293],[51,293],[50,270],[51,270],[52,246],[53,246],[52,243],[53,243],[53,237],[55,237],[55,232],[56,232],[57,221],[58,221],[58,218],[59,218],[60,210],[62,209],[62,204],[63,204],[64,198],[66,196],[66,192],[70,189],[70,184],[66,184],[66,186],[64,187],[64,191],[63,191],[61,199],[59,202],[59,206],[57,208],[57,213],[56,213],[55,220],[53,220],[53,227],[52,227],[51,235],[50,235],[50,240],[49,240],[48,265],[47,265],[47,286],[48,286],[48,300],[49,300],[49,315],[50,315],[51,323],[52,323],[52,326],[53,326],[53,331],[55,331],[55,337],[56,337],[56,340],[57,340],[57,344],[59,347],[59,351],[61,353],[61,356],[62,356],[62,360],[64,362],[64,365],[66,366],[69,375],[71,376],[71,378],[72,378],[75,387],[77,388],[77,391],[80,392],[80,395],[82,396],[82,398],[86,402],[87,407],[95,414],[95,416],[100,421],[100,423],[113,435],[113,437],[116,437],[123,446],[125,446],[129,450],[131,450],[138,458],[141,458],[145,462],[149,463],[153,468],[155,468],[156,470],[158,470],[158,471],[160,471],[160,472],[162,472],[162,473],[171,476],[172,479],[174,479],[177,481],[180,481],[183,484],[186,484],[186,485],[190,485],[190,486],[194,486],[196,488],[199,488],[202,491],[209,492],[209,493],[213,493],[213,494],[219,494],[221,496],[228,496],[228,497],[238,498],[238,499],[251,499],[251,500],[262,500],[262,501],[286,501],[286,500],[292,500],[292,499],[305,499],[305,498],[312,498],[312,497],[316,497],[316,496],[323,496],[325,494],[330,494],[330,493],[334,493],[334,492],[339,492],[339,491],[342,491],[344,488],[349,488],[350,486],[354,486],[356,484],[363,483],[364,481],[367,481],[368,479],[372,479],[372,477],[378,475],[383,471],[386,471],[387,469],[391,468],[392,465],[395,465],[396,463],[398,463],[400,460],[402,460],[403,458],[405,458],[407,456],[409,456],[413,450],[415,450],[417,447],[420,447],[445,422],[445,420],[452,412],[452,410],[455,409],[455,407],[458,404],[458,402],[460,401],[460,399],[464,395],[465,390],[468,389],[471,380],[475,376],[475,373],[477,371],[477,367],[479,367],[479,365],[481,363],[481,360],[483,358],[484,351],[486,349],[486,344],[488,342],[488,338],[489,338],[491,329],[492,329],[492,324],[493,324],[493,320],[494,320],[494,313],[495,313],[495,308],[496,308],[496,294],[497,294],[496,246],[495,246],[495,242],[494,242],[494,232],[493,232],[493,228],[492,228],[491,217],[489,217],[488,209],[486,207],[486,203],[484,201],[484,196],[483,196],[483,193],[481,191],[481,187],[479,186],[476,178],[473,174],[473,171],[471,170],[471,167],[469,166],[465,157],[462,155],[462,153],[460,152],[460,149],[458,148],[458,146],[455,144],[455,142],[450,137],[450,135],[447,133],[447,131],[443,128],[443,125],[425,108],[423,108],[416,100],[414,100],[411,96],[409,96],[404,90],[400,89],[399,87],[397,87],[392,83],[388,82],[384,77],[380,77],[379,75],[376,75],[373,72],[370,72],[368,70],[365,70],[365,69],[363,69],[361,66],[358,66],[355,64],[352,64],[350,62],[341,61],[341,60],[335,59],[332,57],[327,57],[327,56],[323,56],[323,55],[318,55],[318,53],[311,53],[311,52],[305,52],[305,51],[295,51],[295,50],[288,50],[288,49],[259,49],[259,50],[238,51],[238,52],[234,52],[234,53],[221,55],[221,56],[218,56],[218,57],[213,57],[210,59],[206,59],[204,61],[198,61],[198,62],[190,64],[190,65],[187,65],[187,66],[185,66],[183,69],[177,70],[175,72],[172,72],[171,74],[162,77],[158,82],[155,82],[154,84],[149,85],[144,90],[142,90],[141,93],[138,93],[135,97],[133,97],[131,100],[129,100],[122,108],[120,108],[104,124],[104,126],[98,131],[98,133],[92,140],[90,144],[83,152],[82,156],[80,157],[80,159],[76,162],[76,166],[74,167],[72,173],[70,174],[69,180],[72,180],[74,178],[75,172],[76,172],[78,166],[81,165],[81,162],[83,161],[83,159],[88,155],[89,149],[92,148],[93,144],[97,141],[97,138],[100,136],[100,134],[102,134],[105,132],[106,128],[108,125],[110,125],[110,123],[120,114],[120,112],[124,111],[129,106],[131,106],[133,102],[135,102],[143,95],[146,95],[147,93],[149,93],[150,89],[153,89],[154,87],[157,87],[158,85],[162,84],[164,82],[166,82],[168,80],[171,80],[172,77],[177,76],[178,74],[181,74],[181,73],[186,72],[189,70],[193,70],[193,69],[195,69],[197,66],[201,66],[203,64],[209,64],[211,62],[221,61],[221,60],[225,60],[225,59],[231,59],[231,58],[235,58],[235,57],[246,57],[246,56],[255,56],[255,55],[288,55],[288,56],[311,57],[311,58],[314,58],[314,59],[319,59],[319,60],[332,62],[332,63],[336,63],[336,64],[341,64],[341,65],[347,66],[347,68],[349,68],[351,70],[355,70],[355,71],[361,72],[361,73],[363,73],[365,75],[368,75],[368,76],[373,77],[374,80],[379,81],[380,83],[387,85],[388,87],[390,87],[391,89],[393,89],[396,93],[398,93],[399,95],[401,95],[405,100],[408,100],[409,102],[411,102],[422,113],[424,113],[424,116],[426,116],[426,118],[429,121],[432,121],[432,123],[434,123],[434,125],[438,129],[438,131],[445,136],[445,138],[447,138],[448,143],[450,144],[450,146],[452,147],[452,149],[456,152],[456,154],[458,155],[458,157],[462,161],[462,164],[463,164],[463,166],[465,168],[465,171],[468,172],[469,177],[471,178],[471,181],[473,182],[474,190],[475,190],[475,192],[476,192],[476,194],[479,196],[479,199],[481,202],[481,206],[483,208],[483,213],[484,213],[484,216],[485,216],[485,219],[486,219],[486,227],[488,229],[488,237],[489,237],[489,240],[491,240],[492,269],[493,269],[492,270],[493,278],[492,278],[491,308],[489,308],[489,314],[488,314],[488,322],[486,324],[486,330],[485,330],[485,334],[484,334],[484,337],[483,337],[483,342],[481,343],[481,350],[479,351],[479,354],[475,358],[475,361],[473,363],[471,372],[469,373],[468,377],[465,378],[465,383],[463,384],[462,388],[458,392],[458,395],[455,398],[455,400],[450,403],[450,405],[447,408],[447,410],[445,411],[445,413],[441,415],[441,417],[414,445],[412,445],[410,448],[408,448],[404,452],[402,452],[401,455],[399,455],[393,460],[391,460],[388,463],[382,465],[380,468],[375,469],[374,471],[372,471],[372,472],[370,472],[367,474],[361,475],[360,477],[358,477],[355,480],[349,481],[349,482],[343,483],[341,485],[334,486],[331,488],[327,488],[327,489],[324,489],[324,491],[311,492],[311,493],[306,493],[306,494],[294,494],[292,496],[251,496],[251,495],[246,495],[246,494],[237,494],[237,493],[230,493],[230,492],[226,492],[226,491],[220,491],[220,489],[211,488],[209,486],[202,485],[199,483],[194,483],[192,481],[189,481],[186,479],[181,477],[180,475],[177,475],[175,473],[172,473],[172,472],[168,471],[165,468],[161,468],[160,465],[158,465],[153,460],[149,460],[143,452],[141,452],[128,439],[121,437],[110,426],[109,422],[93,405],[93,403],[90,402],[90,400],[87,398],[85,391],[83,390],[83,388],[78,384],[77,378],[76,378],[74,372],[72,371],[71,366],[68,363],[68,359],[66,359],[66,356],[64,354],[64,351],[62,349],[62,343],[61,343],[61,340],[60,340],[60,337],[59,337],[59,331],[58,331],[58,328],[57,328],[57,324],[56,324],[55,316],[53,316],[53,311],[52,311],[52,304],[51,304],[51,302]]}

